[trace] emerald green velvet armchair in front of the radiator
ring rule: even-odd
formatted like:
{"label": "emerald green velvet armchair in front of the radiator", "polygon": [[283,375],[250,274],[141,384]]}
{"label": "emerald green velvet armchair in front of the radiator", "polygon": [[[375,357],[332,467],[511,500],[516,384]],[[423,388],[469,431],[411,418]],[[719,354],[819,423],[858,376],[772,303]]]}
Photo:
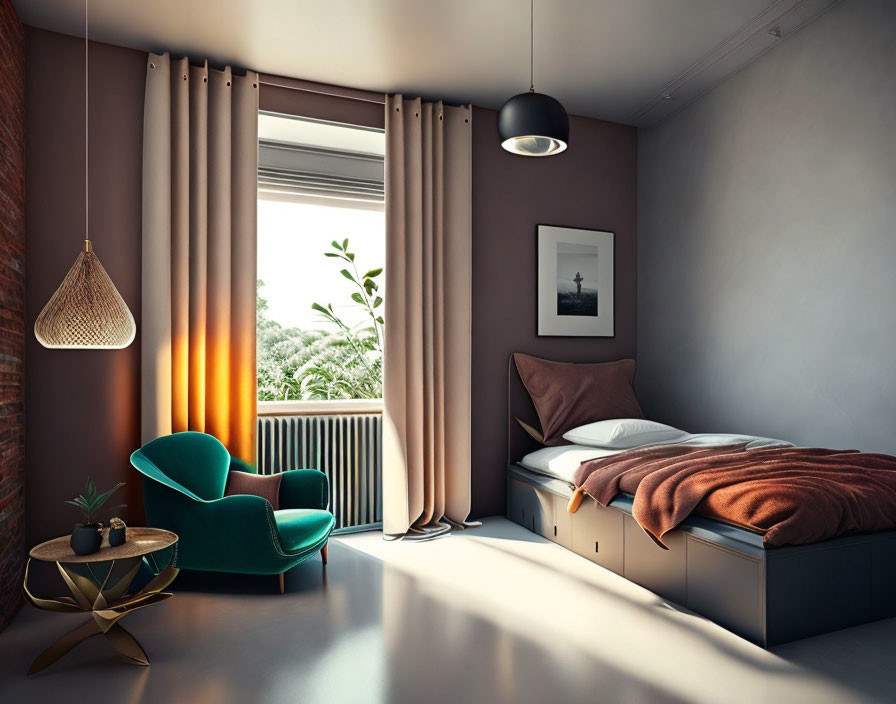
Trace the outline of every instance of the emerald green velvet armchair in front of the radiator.
{"label": "emerald green velvet armchair in front of the radiator", "polygon": [[173,563],[182,569],[280,575],[321,553],[335,520],[327,477],[316,469],[283,472],[279,510],[261,496],[224,495],[232,471],[249,471],[217,438],[186,432],[153,440],[131,455],[143,475],[147,525],[177,533]]}

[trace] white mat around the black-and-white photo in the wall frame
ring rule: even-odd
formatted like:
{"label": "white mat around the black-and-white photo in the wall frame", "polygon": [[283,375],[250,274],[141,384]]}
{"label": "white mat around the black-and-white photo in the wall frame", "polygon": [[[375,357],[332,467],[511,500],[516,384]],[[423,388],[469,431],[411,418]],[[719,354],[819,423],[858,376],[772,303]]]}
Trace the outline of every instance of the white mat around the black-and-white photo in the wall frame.
{"label": "white mat around the black-and-white photo in the wall frame", "polygon": [[[597,316],[557,315],[557,244],[597,247]],[[538,334],[613,337],[613,233],[538,226]]]}

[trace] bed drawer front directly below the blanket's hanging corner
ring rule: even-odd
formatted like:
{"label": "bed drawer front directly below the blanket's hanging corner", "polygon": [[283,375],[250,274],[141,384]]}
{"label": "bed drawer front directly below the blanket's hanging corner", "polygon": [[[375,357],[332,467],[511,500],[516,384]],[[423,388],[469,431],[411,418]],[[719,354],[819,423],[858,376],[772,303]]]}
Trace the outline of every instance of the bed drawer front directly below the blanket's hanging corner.
{"label": "bed drawer front directly below the blanket's hanging corner", "polygon": [[684,533],[666,533],[663,550],[638,522],[625,516],[625,578],[678,604],[687,599],[687,541]]}

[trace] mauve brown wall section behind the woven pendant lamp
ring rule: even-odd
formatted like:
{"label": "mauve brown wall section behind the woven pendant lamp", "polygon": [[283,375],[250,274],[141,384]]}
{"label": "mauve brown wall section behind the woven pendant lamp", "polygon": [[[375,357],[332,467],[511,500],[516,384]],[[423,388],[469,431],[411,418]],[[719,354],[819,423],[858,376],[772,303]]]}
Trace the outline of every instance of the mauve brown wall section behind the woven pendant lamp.
{"label": "mauve brown wall section behind the woven pendant lamp", "polygon": [[110,505],[143,517],[128,456],[139,445],[140,228],[146,54],[91,43],[90,236],[134,317],[124,350],[48,350],[34,320],[74,263],[84,235],[84,43],[26,28],[27,85],[27,541],[70,532],[64,501],[85,478]]}

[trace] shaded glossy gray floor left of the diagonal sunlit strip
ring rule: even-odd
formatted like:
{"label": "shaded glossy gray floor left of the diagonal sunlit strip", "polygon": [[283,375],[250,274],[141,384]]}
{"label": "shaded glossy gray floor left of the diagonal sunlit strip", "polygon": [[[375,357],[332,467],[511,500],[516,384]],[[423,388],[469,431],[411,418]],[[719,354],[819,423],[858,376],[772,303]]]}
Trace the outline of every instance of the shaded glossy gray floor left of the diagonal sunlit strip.
{"label": "shaded glossy gray floor left of the diagonal sunlit strip", "polygon": [[72,619],[25,610],[0,633],[0,701],[683,701],[663,682],[446,601],[429,579],[339,541],[327,570],[324,591],[319,561],[295,568],[288,590],[314,578],[318,586],[282,597],[276,579],[183,573],[173,599],[126,620],[150,668],[123,663],[91,639],[27,678],[31,658]]}

